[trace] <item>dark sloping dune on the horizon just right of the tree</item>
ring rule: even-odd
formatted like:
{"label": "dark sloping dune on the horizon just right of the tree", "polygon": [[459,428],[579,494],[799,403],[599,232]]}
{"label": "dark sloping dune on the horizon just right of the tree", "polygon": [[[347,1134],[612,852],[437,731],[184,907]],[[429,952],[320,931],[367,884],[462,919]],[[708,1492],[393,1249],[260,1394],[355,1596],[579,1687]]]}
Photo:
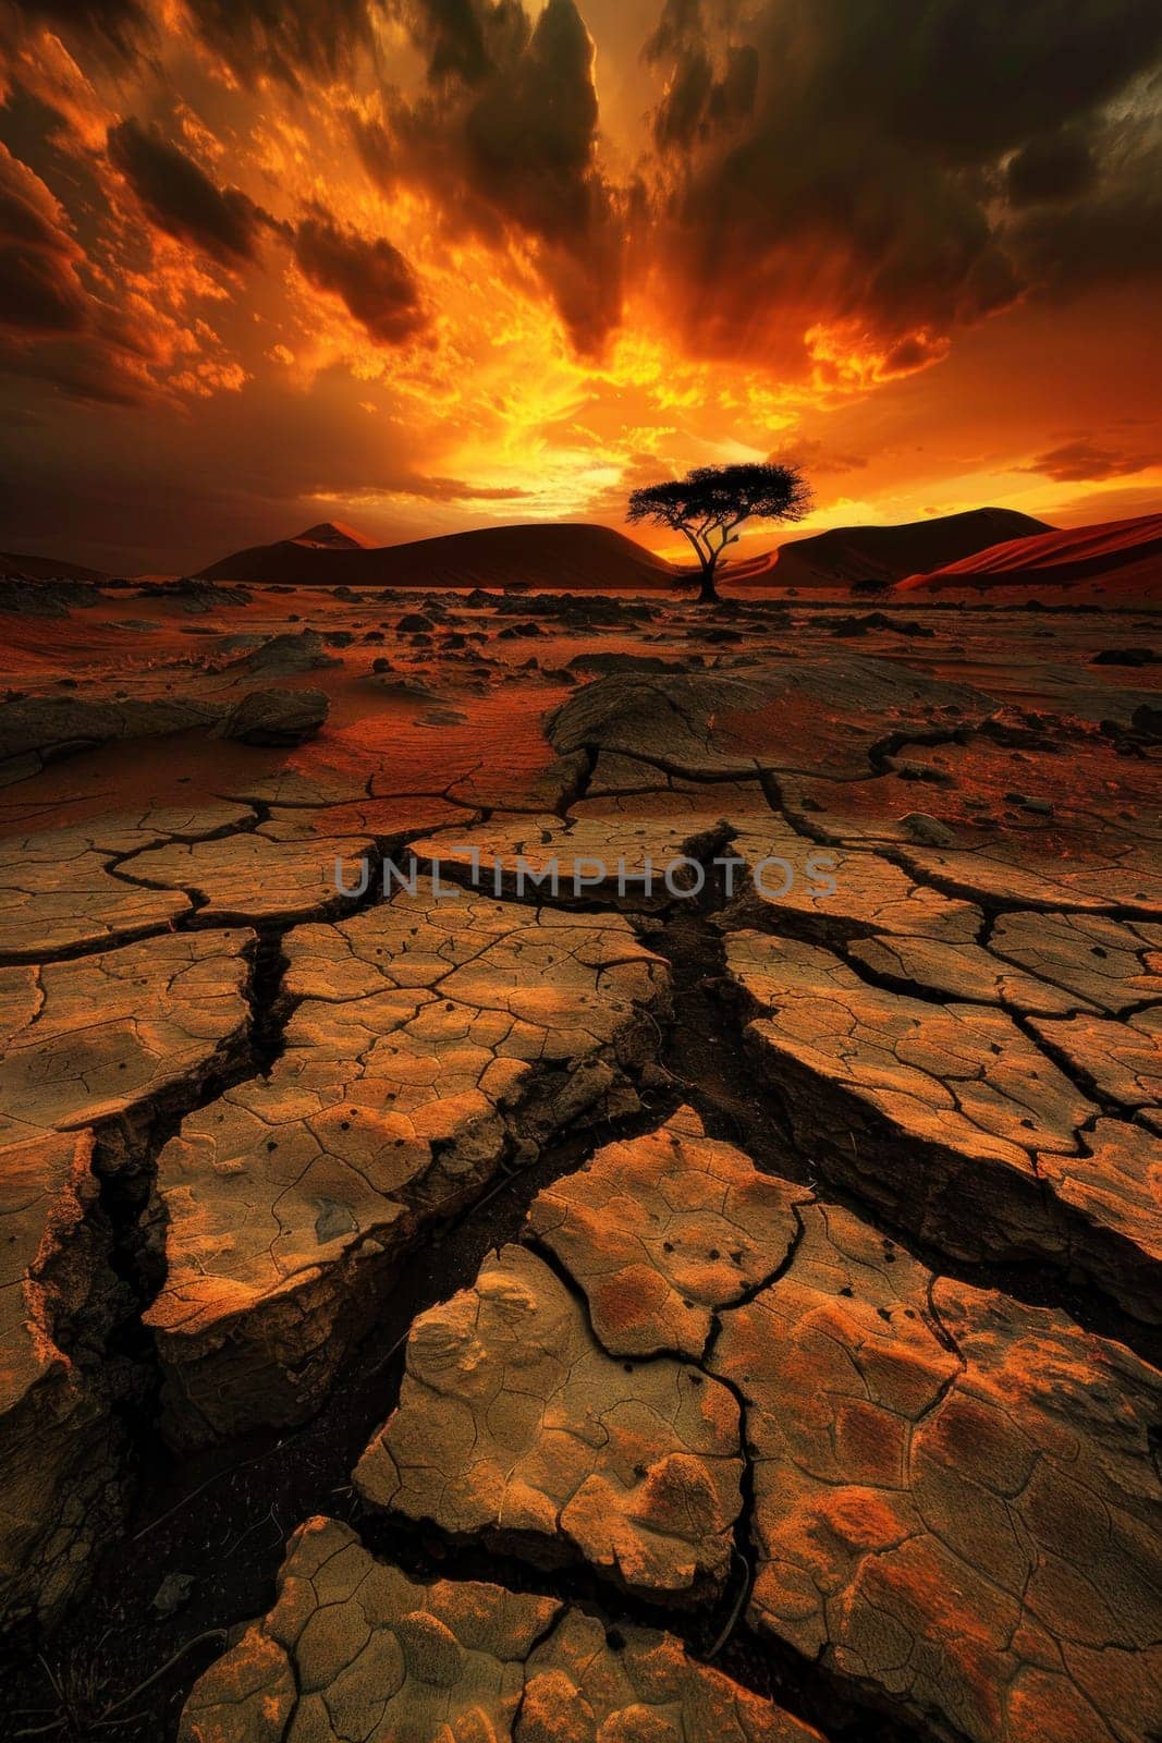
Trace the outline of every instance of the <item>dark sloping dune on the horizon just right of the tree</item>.
{"label": "dark sloping dune on the horizon just right of the tree", "polygon": [[892,586],[906,575],[941,568],[986,551],[1002,539],[1028,539],[1051,528],[1014,509],[969,509],[904,526],[836,526],[793,539],[753,563],[733,563],[725,580],[737,587]]}

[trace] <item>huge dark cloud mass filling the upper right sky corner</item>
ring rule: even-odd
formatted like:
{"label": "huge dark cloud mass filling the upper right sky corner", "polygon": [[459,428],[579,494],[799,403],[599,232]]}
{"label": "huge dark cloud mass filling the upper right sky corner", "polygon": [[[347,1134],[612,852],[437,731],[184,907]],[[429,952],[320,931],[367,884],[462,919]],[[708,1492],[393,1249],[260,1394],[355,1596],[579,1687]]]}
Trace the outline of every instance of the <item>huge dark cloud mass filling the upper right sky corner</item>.
{"label": "huge dark cloud mass filling the upper right sky corner", "polygon": [[1101,108],[1160,44],[1157,0],[667,0],[655,199],[692,340],[793,361],[838,321],[920,366],[1064,268],[1064,209],[1005,197],[1084,193],[1117,253],[1148,181]]}

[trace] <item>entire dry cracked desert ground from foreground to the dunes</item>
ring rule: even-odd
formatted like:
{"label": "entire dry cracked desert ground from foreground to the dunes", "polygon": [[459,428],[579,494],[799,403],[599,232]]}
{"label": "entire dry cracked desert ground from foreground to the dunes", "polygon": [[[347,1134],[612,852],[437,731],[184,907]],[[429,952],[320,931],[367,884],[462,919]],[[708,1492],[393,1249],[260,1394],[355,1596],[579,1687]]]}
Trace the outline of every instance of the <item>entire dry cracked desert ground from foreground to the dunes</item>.
{"label": "entire dry cracked desert ground from foreground to the dunes", "polygon": [[61,612],[3,1734],[1157,1743],[1152,626]]}

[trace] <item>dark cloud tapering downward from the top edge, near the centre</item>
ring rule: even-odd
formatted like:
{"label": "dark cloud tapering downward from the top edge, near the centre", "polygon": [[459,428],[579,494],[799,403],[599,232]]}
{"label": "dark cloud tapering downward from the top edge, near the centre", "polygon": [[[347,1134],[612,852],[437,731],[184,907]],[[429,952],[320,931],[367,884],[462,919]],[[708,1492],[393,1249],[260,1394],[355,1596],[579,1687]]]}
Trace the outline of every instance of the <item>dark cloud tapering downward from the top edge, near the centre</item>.
{"label": "dark cloud tapering downward from the top edge, near the centre", "polygon": [[[390,173],[425,183],[453,225],[530,241],[575,345],[599,350],[620,317],[622,239],[577,5],[549,0],[535,24],[517,0],[416,0],[406,16],[430,89],[395,103]],[[375,166],[375,136],[361,148]]]}

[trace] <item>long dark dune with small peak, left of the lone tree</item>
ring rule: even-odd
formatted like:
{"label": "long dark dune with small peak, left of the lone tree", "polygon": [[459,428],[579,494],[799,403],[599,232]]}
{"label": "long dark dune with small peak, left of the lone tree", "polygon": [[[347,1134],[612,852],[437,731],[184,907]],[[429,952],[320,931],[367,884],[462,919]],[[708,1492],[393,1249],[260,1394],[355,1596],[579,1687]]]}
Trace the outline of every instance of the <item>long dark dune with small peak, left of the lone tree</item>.
{"label": "long dark dune with small peak, left of the lone tree", "polygon": [[672,587],[683,572],[610,526],[486,526],[399,546],[368,546],[326,523],[296,539],[235,551],[199,570],[206,580],[347,587]]}

